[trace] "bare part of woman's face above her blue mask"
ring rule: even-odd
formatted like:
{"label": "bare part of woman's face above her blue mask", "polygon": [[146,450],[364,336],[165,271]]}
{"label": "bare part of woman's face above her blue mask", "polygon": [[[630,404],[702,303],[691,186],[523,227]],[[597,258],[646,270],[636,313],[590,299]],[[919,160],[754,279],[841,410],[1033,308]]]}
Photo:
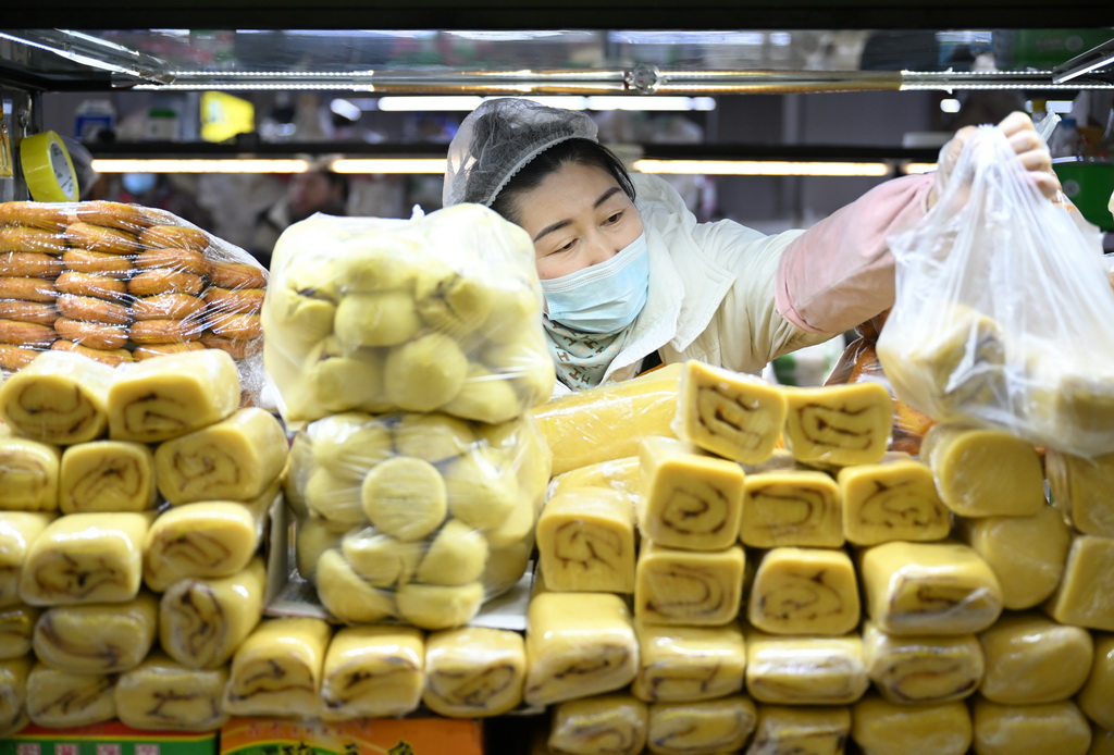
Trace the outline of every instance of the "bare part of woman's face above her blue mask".
{"label": "bare part of woman's face above her blue mask", "polygon": [[595,166],[566,165],[524,192],[516,205],[543,280],[605,262],[642,234],[634,203]]}

